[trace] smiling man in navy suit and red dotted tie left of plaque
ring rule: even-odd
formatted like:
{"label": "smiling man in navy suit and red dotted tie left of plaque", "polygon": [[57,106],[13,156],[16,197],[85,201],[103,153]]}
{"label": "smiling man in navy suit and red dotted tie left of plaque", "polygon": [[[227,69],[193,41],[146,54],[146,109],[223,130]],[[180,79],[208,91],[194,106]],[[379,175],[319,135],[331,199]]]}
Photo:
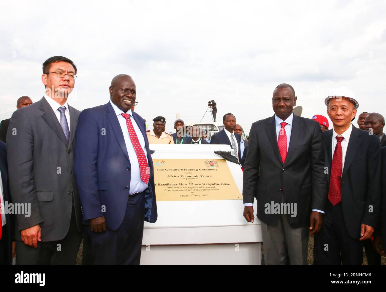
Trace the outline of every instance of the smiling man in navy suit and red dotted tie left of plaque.
{"label": "smiling man in navy suit and red dotted tie left of plaque", "polygon": [[157,220],[144,119],[131,111],[136,88],[115,76],[110,101],[78,118],[74,174],[94,265],[139,265],[144,220]]}

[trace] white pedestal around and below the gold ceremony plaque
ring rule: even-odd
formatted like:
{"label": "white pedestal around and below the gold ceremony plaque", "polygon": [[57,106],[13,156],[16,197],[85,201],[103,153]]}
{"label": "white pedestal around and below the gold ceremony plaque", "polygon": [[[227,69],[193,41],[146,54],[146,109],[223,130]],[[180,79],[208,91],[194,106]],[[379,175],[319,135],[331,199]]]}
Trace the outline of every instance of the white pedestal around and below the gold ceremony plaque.
{"label": "white pedestal around and below the gold ceremony plaque", "polygon": [[[150,144],[152,158],[221,159],[228,145]],[[242,192],[240,166],[227,161]],[[242,216],[242,200],[158,201],[156,223],[144,225],[141,265],[260,265],[261,225]],[[254,206],[256,210],[256,202]]]}

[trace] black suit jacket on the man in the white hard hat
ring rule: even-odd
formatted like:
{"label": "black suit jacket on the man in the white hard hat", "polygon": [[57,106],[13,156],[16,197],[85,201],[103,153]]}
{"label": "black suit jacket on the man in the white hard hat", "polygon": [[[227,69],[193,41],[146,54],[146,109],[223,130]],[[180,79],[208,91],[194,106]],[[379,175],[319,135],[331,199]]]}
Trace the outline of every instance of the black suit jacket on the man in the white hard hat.
{"label": "black suit jacket on the man in the white hard hat", "polygon": [[[332,129],[323,132],[323,141],[330,184]],[[340,186],[345,225],[350,236],[359,239],[362,223],[374,228],[379,223],[381,148],[378,136],[352,127]]]}

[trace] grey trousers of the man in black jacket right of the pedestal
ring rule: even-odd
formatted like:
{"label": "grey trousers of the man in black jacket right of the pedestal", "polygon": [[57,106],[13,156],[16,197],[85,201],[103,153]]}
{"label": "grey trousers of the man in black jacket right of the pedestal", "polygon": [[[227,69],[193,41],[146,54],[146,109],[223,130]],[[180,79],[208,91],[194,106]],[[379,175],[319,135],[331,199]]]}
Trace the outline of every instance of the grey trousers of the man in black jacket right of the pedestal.
{"label": "grey trousers of the man in black jacket right of the pedestal", "polygon": [[269,226],[261,222],[264,262],[266,265],[307,265],[309,228],[292,228],[286,214],[278,224]]}

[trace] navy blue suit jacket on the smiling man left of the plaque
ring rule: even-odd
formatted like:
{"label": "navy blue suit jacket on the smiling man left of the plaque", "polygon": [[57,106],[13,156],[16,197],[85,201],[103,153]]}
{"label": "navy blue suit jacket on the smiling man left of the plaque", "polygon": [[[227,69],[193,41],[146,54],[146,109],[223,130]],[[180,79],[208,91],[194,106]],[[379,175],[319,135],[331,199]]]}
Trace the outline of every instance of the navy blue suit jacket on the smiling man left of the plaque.
{"label": "navy blue suit jacket on the smiling man left of the plaque", "polygon": [[[150,168],[144,220],[157,220],[153,163],[144,119],[132,112],[145,139]],[[131,164],[118,117],[110,102],[82,111],[75,133],[74,175],[83,208],[83,220],[105,216],[106,226],[117,230],[129,198]],[[102,206],[105,212],[102,212]],[[85,223],[85,222],[84,222]]]}

